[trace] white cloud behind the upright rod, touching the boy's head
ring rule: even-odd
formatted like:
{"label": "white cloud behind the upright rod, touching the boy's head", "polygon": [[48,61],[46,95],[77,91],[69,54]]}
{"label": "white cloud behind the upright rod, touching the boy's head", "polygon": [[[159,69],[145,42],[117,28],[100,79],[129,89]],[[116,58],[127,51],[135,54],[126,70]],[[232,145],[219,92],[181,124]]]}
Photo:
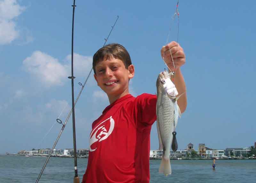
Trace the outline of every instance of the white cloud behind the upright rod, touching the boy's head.
{"label": "white cloud behind the upright rod, touching the boy's head", "polygon": [[[92,57],[87,57],[74,53],[74,75],[75,76],[85,76],[92,69]],[[71,54],[69,54],[65,59],[68,64],[66,65],[69,73],[71,73]]]}

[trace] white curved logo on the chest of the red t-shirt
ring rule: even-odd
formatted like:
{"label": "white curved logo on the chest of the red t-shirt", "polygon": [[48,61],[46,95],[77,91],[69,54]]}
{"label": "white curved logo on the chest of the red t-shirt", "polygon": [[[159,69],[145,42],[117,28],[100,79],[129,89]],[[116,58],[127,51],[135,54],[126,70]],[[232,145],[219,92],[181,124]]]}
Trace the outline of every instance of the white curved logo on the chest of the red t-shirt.
{"label": "white curved logo on the chest of the red t-shirt", "polygon": [[[108,120],[110,122],[110,127],[109,127],[109,130],[107,130],[105,128],[106,123],[108,123]],[[104,125],[105,124],[105,125]],[[110,116],[108,119],[106,119],[105,121],[101,122],[98,126],[96,126],[91,134],[90,134],[90,146],[89,146],[89,150],[92,152],[92,151],[95,151],[97,149],[97,147],[95,147],[95,149],[92,149],[91,146],[93,143],[97,142],[97,141],[102,141],[102,140],[105,140],[108,138],[108,136],[112,133],[113,129],[114,129],[114,126],[115,126],[115,121],[114,119],[112,118],[112,116]],[[100,133],[98,133],[98,131]],[[96,134],[98,134],[96,136]]]}

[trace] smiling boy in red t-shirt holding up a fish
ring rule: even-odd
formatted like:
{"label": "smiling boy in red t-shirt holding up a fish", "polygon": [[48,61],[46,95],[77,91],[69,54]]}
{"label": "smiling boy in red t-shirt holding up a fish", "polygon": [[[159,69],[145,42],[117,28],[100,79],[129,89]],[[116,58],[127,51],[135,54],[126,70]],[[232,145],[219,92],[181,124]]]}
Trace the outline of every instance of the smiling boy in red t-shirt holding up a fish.
{"label": "smiling boy in red t-shirt holding up a fish", "polygon": [[[161,49],[168,67],[176,66],[174,82],[178,92],[186,91],[180,71],[185,63],[183,49],[171,42]],[[92,123],[89,159],[83,183],[148,183],[150,130],[156,121],[156,95],[144,93],[133,97],[129,80],[134,66],[126,49],[109,44],[93,56],[94,78],[107,93],[110,105]],[[187,105],[186,94],[178,100],[181,112]]]}

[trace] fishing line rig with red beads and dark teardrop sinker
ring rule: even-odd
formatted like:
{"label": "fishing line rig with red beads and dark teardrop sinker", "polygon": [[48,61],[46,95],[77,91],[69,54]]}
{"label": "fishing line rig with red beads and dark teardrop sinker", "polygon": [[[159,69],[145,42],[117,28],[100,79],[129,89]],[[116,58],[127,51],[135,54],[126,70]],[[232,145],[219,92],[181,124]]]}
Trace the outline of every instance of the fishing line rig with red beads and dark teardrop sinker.
{"label": "fishing line rig with red beads and dark teardrop sinker", "polygon": [[[179,24],[180,24],[179,0],[177,1],[176,12],[175,12],[174,15],[172,16],[172,20],[174,20],[175,17],[177,17],[177,19],[178,19],[178,20],[177,20],[177,47],[178,47],[178,43],[179,43]],[[171,26],[170,26],[169,33],[168,33],[168,36],[167,36],[166,44],[168,44],[168,42],[169,42],[170,32],[171,32]],[[168,45],[168,47],[169,47],[169,45]],[[175,67],[175,64],[174,64],[174,59],[173,59],[173,56],[172,56],[172,52],[171,52],[170,47],[169,47],[169,51],[170,51],[170,54],[171,54],[172,64],[173,64],[174,70],[172,71],[172,70],[167,66],[166,62],[164,61],[164,57],[163,57],[163,61],[164,61],[165,65],[167,66],[167,68],[169,69],[170,75],[173,75],[172,81],[174,82],[174,76],[175,76],[176,67]],[[173,115],[175,116],[175,111],[174,111],[174,110],[173,110]],[[174,120],[173,120],[173,131],[172,131],[172,145],[171,145],[172,150],[173,150],[174,153],[176,153],[176,151],[177,151],[177,149],[178,149],[178,143],[177,143],[176,135],[177,135],[177,132],[176,132],[176,127],[175,127],[175,119],[174,119]]]}

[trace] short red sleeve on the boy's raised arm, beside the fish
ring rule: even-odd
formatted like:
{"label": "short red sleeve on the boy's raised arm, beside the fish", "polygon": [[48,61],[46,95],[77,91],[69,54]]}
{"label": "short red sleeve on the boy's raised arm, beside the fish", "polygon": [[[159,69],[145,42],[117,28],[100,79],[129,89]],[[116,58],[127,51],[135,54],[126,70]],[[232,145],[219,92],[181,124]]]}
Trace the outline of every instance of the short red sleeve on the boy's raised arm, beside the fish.
{"label": "short red sleeve on the boy's raised arm, beside the fish", "polygon": [[136,97],[134,110],[137,124],[152,125],[156,121],[156,95],[143,93]]}

